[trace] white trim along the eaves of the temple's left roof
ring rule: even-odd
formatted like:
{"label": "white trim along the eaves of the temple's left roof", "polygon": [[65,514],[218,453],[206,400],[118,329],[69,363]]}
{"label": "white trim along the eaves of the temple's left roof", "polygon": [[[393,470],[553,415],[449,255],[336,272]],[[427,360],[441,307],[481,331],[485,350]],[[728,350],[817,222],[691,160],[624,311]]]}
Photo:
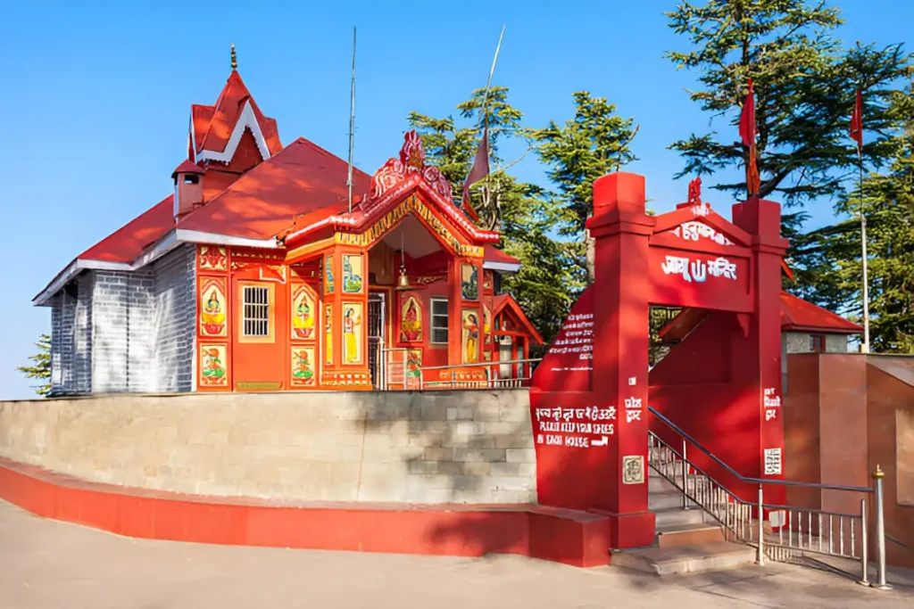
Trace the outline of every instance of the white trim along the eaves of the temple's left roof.
{"label": "white trim along the eaves of the temple's left roof", "polygon": [[84,270],[121,270],[134,271],[153,263],[160,257],[175,249],[182,243],[206,243],[216,246],[262,247],[277,249],[280,247],[275,238],[253,239],[245,236],[218,235],[217,233],[204,233],[197,230],[184,230],[175,228],[159,239],[153,247],[147,248],[139,257],[130,262],[112,262],[110,260],[91,260],[77,258],[67,265],[58,276],[53,278],[45,289],[32,299],[36,307],[48,306],[48,300],[53,298],[69,281]]}

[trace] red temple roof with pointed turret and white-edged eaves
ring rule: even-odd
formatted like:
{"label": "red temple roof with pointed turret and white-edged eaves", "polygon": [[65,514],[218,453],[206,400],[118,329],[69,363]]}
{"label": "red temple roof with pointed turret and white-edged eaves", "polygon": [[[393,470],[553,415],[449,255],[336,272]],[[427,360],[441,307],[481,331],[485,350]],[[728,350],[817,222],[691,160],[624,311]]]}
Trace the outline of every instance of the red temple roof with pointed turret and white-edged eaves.
{"label": "red temple roof with pointed turret and white-edged eaves", "polygon": [[[380,209],[362,209],[365,194],[380,193],[372,176],[354,169],[356,209],[347,213],[348,163],[303,138],[283,148],[276,121],[263,115],[235,70],[213,106],[191,107],[189,131],[188,154],[192,158],[179,164],[172,177],[179,172],[201,173],[205,205],[175,224],[174,195],[165,197],[75,258],[37,295],[37,304],[47,302],[80,269],[111,265],[139,268],[182,242],[282,247],[278,239],[302,226],[337,218],[351,228],[359,221],[373,221],[373,214]],[[250,144],[242,142],[250,142],[251,137],[263,161],[240,174],[212,164],[231,163],[239,143],[250,153]],[[418,137],[413,140],[418,142]],[[437,171],[423,166],[422,178],[429,181]],[[497,234],[471,225],[462,210],[448,203],[444,211],[457,225],[473,236],[479,233],[490,240],[497,238]],[[485,247],[484,260],[486,268],[505,272],[520,266],[514,257],[489,246]]]}

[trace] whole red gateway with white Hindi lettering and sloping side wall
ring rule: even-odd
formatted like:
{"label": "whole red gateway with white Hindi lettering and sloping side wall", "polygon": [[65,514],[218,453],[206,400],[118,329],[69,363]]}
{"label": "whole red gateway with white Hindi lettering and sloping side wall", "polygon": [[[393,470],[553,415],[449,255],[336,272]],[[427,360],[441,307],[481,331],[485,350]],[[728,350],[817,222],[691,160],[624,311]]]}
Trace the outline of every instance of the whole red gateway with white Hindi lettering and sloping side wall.
{"label": "whole red gateway with white Hindi lettering and sloping side wall", "polygon": [[[648,404],[743,476],[782,477],[781,205],[752,198],[729,221],[696,185],[688,203],[652,216],[643,176],[596,181],[595,282],[531,386],[539,503],[603,515],[612,548],[654,542],[648,431],[670,432]],[[651,305],[704,320],[649,372]],[[696,462],[743,499],[757,492]],[[782,493],[773,487],[766,499],[780,504]]]}

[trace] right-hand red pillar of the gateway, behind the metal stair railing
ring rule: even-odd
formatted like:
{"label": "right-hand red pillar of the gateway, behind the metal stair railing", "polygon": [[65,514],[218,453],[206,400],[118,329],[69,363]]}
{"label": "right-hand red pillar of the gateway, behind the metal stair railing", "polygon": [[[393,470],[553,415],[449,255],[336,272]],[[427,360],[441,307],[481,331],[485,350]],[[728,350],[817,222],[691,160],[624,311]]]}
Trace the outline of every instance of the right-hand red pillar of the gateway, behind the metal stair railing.
{"label": "right-hand red pillar of the gateway, behind the metal stair railing", "polygon": [[[781,260],[789,243],[781,237],[781,205],[758,198],[733,205],[733,224],[752,236],[752,290],[756,310],[748,320],[748,344],[739,353],[742,363],[734,372],[742,375],[741,384],[748,390],[748,406],[758,411],[760,471],[757,474],[760,478],[783,479]],[[783,487],[766,487],[764,494],[766,503],[784,503]]]}

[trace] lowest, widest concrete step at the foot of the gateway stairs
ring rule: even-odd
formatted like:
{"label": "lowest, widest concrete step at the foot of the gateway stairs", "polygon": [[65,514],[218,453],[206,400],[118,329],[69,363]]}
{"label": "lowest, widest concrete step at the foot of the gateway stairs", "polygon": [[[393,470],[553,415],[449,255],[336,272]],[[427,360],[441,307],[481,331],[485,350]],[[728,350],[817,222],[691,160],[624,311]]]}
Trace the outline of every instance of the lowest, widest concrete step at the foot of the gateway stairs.
{"label": "lowest, widest concrete step at the foot of the gateway stairs", "polygon": [[754,560],[754,548],[729,541],[716,541],[613,551],[611,565],[655,575],[674,575],[730,569]]}

